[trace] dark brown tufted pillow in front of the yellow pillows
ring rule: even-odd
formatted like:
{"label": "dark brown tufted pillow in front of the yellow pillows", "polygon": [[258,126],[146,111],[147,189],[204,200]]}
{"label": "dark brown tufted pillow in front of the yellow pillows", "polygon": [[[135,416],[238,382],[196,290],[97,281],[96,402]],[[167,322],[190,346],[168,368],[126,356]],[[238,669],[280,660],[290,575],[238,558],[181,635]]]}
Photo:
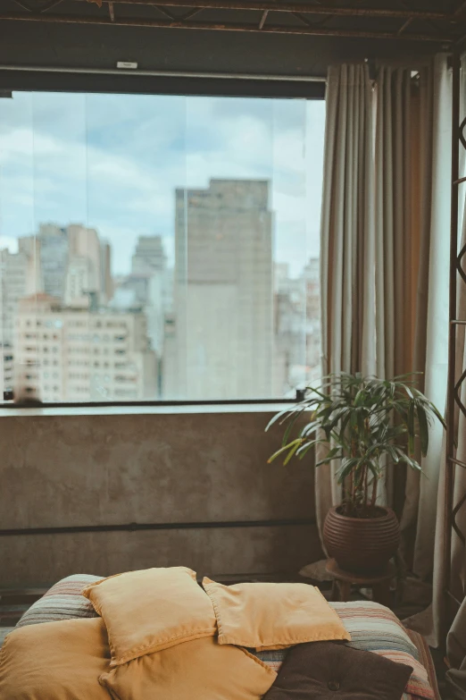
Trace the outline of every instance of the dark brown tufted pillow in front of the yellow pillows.
{"label": "dark brown tufted pillow in front of the yellow pillows", "polygon": [[290,649],[263,700],[400,700],[411,666],[338,642]]}

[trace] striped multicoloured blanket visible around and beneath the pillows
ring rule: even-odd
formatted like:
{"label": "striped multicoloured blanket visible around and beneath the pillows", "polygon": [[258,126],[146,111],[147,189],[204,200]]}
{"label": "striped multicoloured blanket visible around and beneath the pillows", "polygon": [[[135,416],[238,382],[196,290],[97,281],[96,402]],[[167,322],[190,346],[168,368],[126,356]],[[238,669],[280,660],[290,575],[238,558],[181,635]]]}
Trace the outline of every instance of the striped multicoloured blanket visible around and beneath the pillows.
{"label": "striped multicoloured blanket visible around and beneath the pillows", "polygon": [[[63,578],[24,613],[17,627],[40,622],[96,616],[90,601],[81,591],[102,577],[78,574]],[[404,700],[440,700],[429,647],[420,635],[404,628],[388,608],[378,603],[354,601],[330,603],[351,635],[356,649],[387,656],[412,666]],[[274,670],[279,670],[287,650],[258,652],[256,655]]]}

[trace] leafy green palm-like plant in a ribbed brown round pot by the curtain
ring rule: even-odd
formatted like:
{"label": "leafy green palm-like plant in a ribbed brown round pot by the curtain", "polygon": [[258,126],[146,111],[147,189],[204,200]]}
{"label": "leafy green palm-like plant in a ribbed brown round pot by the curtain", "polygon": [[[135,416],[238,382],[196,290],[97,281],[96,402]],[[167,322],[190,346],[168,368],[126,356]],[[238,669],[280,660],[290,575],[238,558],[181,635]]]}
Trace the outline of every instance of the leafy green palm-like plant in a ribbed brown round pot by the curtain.
{"label": "leafy green palm-like plant in a ribbed brown round pot by the curtain", "polygon": [[[319,388],[308,387],[304,401],[281,411],[273,423],[287,424],[279,456],[287,464],[318,446],[316,467],[338,463],[341,504],[325,519],[323,543],[341,569],[368,574],[384,569],[395,554],[400,531],[395,513],[378,504],[380,478],[390,464],[420,469],[414,458],[429,450],[429,424],[445,421],[415,386],[413,375],[393,381],[361,374],[329,375]],[[296,433],[297,431],[297,433]],[[296,435],[296,436],[295,436]]]}

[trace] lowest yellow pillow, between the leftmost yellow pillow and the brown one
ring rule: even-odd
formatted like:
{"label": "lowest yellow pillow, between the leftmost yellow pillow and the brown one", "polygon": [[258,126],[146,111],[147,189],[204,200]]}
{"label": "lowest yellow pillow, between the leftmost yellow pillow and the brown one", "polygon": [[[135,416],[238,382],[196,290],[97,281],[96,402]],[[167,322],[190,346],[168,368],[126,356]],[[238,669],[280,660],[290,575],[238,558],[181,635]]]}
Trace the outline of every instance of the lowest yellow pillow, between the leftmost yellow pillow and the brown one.
{"label": "lowest yellow pillow, between the leftmost yellow pillow and the brown one", "polygon": [[244,649],[204,637],[141,656],[100,682],[115,700],[260,700],[276,678]]}

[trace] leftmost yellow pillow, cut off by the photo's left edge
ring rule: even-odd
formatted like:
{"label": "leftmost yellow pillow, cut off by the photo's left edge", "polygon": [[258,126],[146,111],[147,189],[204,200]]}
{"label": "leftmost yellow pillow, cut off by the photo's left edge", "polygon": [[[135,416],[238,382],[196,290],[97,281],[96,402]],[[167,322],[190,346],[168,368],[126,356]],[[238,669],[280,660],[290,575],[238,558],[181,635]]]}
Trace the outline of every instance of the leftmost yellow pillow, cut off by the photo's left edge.
{"label": "leftmost yellow pillow, cut off by the photo's left edge", "polygon": [[4,700],[109,700],[98,679],[110,653],[100,618],[15,629],[0,653]]}

